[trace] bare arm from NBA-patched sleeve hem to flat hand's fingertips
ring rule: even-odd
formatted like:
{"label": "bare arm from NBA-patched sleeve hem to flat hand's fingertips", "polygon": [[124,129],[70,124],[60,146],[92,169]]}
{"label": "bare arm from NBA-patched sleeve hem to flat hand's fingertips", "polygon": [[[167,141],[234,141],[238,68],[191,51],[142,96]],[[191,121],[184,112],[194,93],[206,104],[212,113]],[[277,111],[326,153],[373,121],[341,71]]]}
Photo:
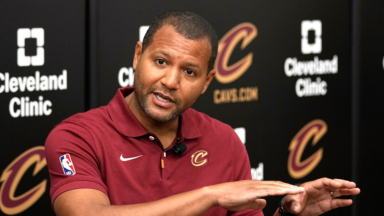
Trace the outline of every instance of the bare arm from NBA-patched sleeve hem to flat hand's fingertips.
{"label": "bare arm from NBA-patched sleeve hem to flat hand's fingertips", "polygon": [[243,180],[205,186],[149,203],[111,206],[103,192],[81,188],[60,194],[53,203],[58,216],[201,215],[214,206],[230,211],[263,209],[265,196],[302,193],[304,188],[280,181]]}

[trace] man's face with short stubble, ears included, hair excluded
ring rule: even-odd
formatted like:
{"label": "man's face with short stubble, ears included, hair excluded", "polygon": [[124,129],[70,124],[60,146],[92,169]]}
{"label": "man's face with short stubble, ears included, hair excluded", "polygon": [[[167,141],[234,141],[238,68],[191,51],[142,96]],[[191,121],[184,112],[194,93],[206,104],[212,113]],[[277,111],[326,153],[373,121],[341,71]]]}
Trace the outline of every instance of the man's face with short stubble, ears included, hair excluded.
{"label": "man's face with short stubble, ears included, hair excluded", "polygon": [[[169,25],[161,27],[146,50],[138,42],[133,68],[139,111],[152,120],[174,120],[204,93],[215,75],[207,76],[208,39],[188,40]],[[145,117],[145,116],[144,116]]]}

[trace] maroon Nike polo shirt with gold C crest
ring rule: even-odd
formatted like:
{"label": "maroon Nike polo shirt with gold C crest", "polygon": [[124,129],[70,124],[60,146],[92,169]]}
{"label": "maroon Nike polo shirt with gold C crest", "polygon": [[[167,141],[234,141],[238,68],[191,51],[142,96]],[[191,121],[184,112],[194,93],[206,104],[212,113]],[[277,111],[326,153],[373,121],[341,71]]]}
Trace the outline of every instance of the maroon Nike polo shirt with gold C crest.
{"label": "maroon Nike polo shirt with gold C crest", "polygon": [[[59,194],[76,188],[100,190],[112,205],[124,205],[251,179],[247,152],[229,125],[189,108],[179,118],[173,142],[180,139],[187,150],[177,155],[164,150],[156,135],[131,113],[124,97],[132,91],[120,88],[107,106],[73,115],[51,131],[45,153],[52,204]],[[227,212],[220,207],[203,215],[226,214],[263,215],[258,210]]]}

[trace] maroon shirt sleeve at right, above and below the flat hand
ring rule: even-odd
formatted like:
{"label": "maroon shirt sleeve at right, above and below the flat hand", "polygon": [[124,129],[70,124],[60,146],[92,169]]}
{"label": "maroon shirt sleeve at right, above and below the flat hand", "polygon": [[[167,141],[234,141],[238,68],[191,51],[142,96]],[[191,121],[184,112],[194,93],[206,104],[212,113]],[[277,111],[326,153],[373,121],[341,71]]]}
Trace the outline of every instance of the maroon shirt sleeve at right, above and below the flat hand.
{"label": "maroon shirt sleeve at right, above and below the flat hand", "polygon": [[[234,181],[249,180],[251,176],[251,165],[245,146],[243,145],[240,138],[233,131],[233,179]],[[264,216],[262,210],[256,209],[245,209],[243,211],[228,211],[229,216]]]}

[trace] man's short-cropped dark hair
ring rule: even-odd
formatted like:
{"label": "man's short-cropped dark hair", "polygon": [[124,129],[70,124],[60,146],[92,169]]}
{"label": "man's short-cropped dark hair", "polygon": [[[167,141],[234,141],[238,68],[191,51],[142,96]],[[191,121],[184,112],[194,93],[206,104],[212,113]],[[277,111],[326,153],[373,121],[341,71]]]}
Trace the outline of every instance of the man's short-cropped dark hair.
{"label": "man's short-cropped dark hair", "polygon": [[155,17],[144,36],[141,52],[152,43],[155,33],[164,25],[171,25],[177,33],[189,40],[207,38],[211,45],[207,74],[214,68],[218,47],[216,32],[207,20],[186,10],[171,10]]}

